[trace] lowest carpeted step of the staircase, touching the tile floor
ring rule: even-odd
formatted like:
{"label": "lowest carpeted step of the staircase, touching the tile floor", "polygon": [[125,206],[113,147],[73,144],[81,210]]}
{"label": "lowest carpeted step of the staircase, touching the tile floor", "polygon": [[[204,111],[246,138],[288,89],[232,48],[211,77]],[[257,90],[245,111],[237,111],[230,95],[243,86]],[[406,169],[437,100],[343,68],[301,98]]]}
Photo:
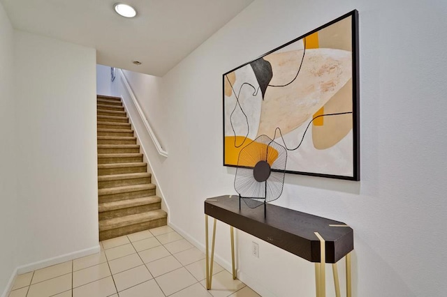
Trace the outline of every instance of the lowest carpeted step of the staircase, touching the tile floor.
{"label": "lowest carpeted step of the staircase, touching the tile floor", "polygon": [[161,209],[99,221],[99,240],[115,238],[166,225],[168,214]]}

